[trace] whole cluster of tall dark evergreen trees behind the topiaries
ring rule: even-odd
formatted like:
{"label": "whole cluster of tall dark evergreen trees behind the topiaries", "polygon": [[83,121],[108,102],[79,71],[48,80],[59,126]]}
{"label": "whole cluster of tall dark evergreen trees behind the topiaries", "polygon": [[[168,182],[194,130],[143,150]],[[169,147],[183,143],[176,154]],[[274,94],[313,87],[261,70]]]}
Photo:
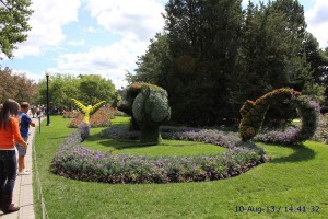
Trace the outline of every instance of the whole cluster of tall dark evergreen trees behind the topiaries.
{"label": "whole cluster of tall dark evergreen trees behind the topiaries", "polygon": [[282,87],[315,93],[313,78],[327,78],[309,58],[318,50],[297,0],[249,1],[245,11],[237,0],[171,0],[165,10],[166,47],[152,42],[136,78],[167,90],[174,122],[220,124],[247,99]]}

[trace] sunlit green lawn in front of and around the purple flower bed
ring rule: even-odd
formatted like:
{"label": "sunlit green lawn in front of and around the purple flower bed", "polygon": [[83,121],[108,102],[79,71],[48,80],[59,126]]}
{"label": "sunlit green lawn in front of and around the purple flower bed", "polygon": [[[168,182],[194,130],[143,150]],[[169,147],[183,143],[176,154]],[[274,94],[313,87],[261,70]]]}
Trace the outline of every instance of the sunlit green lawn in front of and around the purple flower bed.
{"label": "sunlit green lawn in front of and around the purple flower bed", "polygon": [[[42,132],[37,132],[35,139],[42,188],[51,219],[326,218],[328,215],[327,145],[313,141],[306,141],[298,147],[260,145],[271,158],[269,163],[237,177],[221,181],[136,185],[91,183],[62,178],[49,172],[49,164],[58,146],[74,130],[66,127],[68,122],[60,117],[51,117],[51,126],[45,126],[44,122]],[[117,124],[124,123],[120,120]],[[96,142],[102,141],[96,137],[99,130],[92,129],[93,140],[89,139],[90,145],[85,142],[87,147],[108,150],[119,147],[115,143],[127,143],[108,141],[113,146],[101,143],[97,146]],[[167,147],[167,150],[161,151],[159,148],[159,153],[171,154],[169,151],[175,150],[177,153],[189,154],[196,148],[191,142],[189,146],[187,142],[183,142],[183,146],[172,146],[171,141],[164,143],[167,145],[162,147]],[[212,146],[199,145],[199,147],[203,147],[203,150],[209,147],[208,153],[212,151]],[[119,151],[134,154],[141,154],[142,151],[149,154],[156,152],[150,147],[122,148]],[[35,186],[34,182],[34,191]],[[37,197],[36,192],[34,195]],[[37,218],[42,218],[40,207],[37,204],[38,200],[36,200]],[[244,206],[244,212],[236,212],[238,206]],[[280,212],[258,214],[247,212],[249,206],[261,207],[263,210],[270,206],[282,208]],[[306,212],[285,212],[285,207],[290,206],[305,206]],[[319,212],[309,212],[311,206],[318,206]]]}

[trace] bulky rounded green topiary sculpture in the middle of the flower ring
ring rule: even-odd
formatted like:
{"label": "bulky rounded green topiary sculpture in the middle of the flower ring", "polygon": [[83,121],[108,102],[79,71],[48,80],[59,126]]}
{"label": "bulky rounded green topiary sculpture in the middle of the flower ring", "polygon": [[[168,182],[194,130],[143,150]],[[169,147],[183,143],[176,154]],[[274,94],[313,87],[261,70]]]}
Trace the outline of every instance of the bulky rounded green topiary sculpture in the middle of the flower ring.
{"label": "bulky rounded green topiary sculpture in the middle of the flower ring", "polygon": [[138,124],[141,142],[161,142],[159,128],[171,117],[167,92],[164,89],[149,83],[133,83],[127,89],[118,110],[131,115],[131,122]]}

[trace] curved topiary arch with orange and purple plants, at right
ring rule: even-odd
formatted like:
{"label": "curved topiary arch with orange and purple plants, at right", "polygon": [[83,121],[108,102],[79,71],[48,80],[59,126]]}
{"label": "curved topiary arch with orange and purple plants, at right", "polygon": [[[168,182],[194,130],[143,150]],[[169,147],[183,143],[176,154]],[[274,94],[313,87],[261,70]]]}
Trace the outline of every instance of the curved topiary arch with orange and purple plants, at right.
{"label": "curved topiary arch with orange and purple plants, at right", "polygon": [[241,108],[243,118],[239,124],[239,135],[243,141],[250,140],[259,132],[267,111],[270,105],[277,102],[291,103],[302,118],[302,127],[295,135],[294,142],[302,142],[313,137],[318,119],[315,106],[297,91],[277,89],[257,99],[255,102],[247,100]]}

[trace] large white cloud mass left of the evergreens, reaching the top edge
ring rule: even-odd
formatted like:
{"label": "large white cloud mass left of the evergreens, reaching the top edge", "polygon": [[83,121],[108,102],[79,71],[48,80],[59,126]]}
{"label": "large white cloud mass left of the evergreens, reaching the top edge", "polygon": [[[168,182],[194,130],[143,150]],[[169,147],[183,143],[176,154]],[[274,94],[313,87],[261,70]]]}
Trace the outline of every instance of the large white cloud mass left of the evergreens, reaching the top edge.
{"label": "large white cloud mass left of the evergreens, reaching the top edge", "polygon": [[[85,0],[85,9],[97,24],[106,31],[120,34],[122,38],[85,53],[59,56],[57,70],[70,73],[98,73],[113,81],[116,88],[127,85],[125,69],[137,68],[137,56],[145,53],[150,38],[163,30],[161,12],[164,7],[156,0]],[[96,30],[89,26],[87,31]]]}

